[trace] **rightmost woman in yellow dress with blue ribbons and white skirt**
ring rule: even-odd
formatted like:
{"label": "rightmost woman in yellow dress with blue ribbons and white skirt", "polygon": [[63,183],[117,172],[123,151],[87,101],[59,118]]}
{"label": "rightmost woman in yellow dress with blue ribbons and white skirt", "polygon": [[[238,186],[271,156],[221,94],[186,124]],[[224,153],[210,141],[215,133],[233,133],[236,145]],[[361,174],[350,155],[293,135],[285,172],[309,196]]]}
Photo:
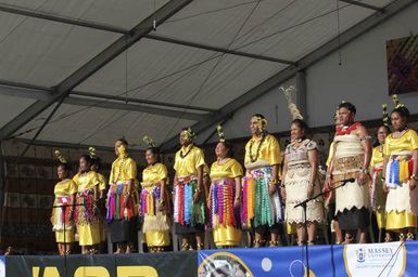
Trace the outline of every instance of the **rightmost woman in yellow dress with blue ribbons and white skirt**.
{"label": "rightmost woman in yellow dress with blue ribbons and white skirt", "polygon": [[[400,240],[414,239],[418,215],[418,134],[408,129],[409,110],[398,104],[391,113],[394,132],[384,141],[383,175],[388,193],[387,232],[400,233]],[[387,237],[388,241],[392,240]]]}

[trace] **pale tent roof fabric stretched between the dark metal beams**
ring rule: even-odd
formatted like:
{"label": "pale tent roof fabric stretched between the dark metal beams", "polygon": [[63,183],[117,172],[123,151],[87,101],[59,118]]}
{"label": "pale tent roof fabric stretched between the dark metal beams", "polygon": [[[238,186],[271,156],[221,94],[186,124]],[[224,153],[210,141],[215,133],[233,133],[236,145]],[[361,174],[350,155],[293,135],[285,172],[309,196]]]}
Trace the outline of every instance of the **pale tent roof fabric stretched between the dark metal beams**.
{"label": "pale tent roof fabric stretched between the dark metal beams", "polygon": [[[5,92],[11,82],[22,90],[34,87],[50,93],[49,90],[121,38],[122,32],[127,32],[168,2],[0,0],[0,128],[38,97],[33,91],[13,96],[13,93]],[[143,148],[142,136],[147,134],[156,143],[164,143],[180,128],[200,121],[191,120],[194,118],[192,113],[195,118],[216,114],[214,110],[239,98],[275,74],[292,67],[289,63],[297,63],[334,39],[339,31],[343,32],[379,13],[350,2],[354,1],[191,1],[160,23],[150,35],[193,45],[161,41],[152,36],[140,39],[77,85],[38,140],[111,146],[115,138],[125,136],[135,147]],[[396,1],[359,2],[378,9]],[[13,9],[29,14],[11,12]],[[30,16],[30,13],[37,16]],[[338,16],[340,30],[337,28]],[[110,26],[114,31],[94,28],[101,25]],[[237,50],[289,63],[225,54],[197,48],[195,44]],[[80,105],[86,96],[77,93],[96,96],[87,97],[90,104]],[[177,116],[168,116],[170,113],[149,114],[139,107],[135,110],[136,106],[129,106],[121,98],[103,100],[102,96],[155,101],[163,108],[176,110]],[[97,107],[91,100],[110,102],[110,105],[117,102],[121,108]],[[198,109],[169,107],[173,104]],[[122,110],[123,105],[127,110]],[[31,138],[53,106],[23,126],[16,137]],[[186,113],[190,114],[189,117],[182,116]]]}

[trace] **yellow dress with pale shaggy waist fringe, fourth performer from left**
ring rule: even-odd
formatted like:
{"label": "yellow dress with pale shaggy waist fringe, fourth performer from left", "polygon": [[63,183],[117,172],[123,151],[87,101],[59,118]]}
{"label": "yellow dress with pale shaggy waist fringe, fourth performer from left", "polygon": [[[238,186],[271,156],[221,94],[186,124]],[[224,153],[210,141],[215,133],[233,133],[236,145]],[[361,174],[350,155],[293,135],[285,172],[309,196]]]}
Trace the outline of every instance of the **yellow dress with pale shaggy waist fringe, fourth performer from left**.
{"label": "yellow dress with pale shaggy waist fringe, fourth performer from left", "polygon": [[[149,166],[142,171],[141,215],[143,216],[142,232],[148,247],[166,247],[169,245],[168,195],[161,195],[161,181],[166,183],[167,168],[163,163]],[[164,212],[157,211],[159,200],[163,199]]]}

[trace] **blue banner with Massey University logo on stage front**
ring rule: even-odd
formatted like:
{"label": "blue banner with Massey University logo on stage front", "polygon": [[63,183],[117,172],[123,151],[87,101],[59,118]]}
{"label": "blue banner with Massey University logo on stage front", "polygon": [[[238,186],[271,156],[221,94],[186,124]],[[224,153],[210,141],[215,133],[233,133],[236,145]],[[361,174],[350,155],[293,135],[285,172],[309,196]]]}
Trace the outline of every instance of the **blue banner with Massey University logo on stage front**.
{"label": "blue banner with Massey University logo on stage front", "polygon": [[[307,276],[304,247],[228,249],[199,252],[199,277]],[[418,242],[314,246],[309,277],[417,276]],[[408,259],[409,258],[409,259]]]}

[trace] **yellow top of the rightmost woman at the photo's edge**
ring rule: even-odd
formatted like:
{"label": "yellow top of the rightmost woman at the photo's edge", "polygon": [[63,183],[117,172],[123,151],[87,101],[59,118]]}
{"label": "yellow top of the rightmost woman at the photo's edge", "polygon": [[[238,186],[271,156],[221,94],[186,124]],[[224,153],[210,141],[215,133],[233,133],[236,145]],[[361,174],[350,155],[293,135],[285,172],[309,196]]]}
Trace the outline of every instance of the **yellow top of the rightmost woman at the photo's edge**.
{"label": "yellow top of the rightmost woman at the photo's edge", "polygon": [[390,134],[384,140],[383,154],[385,156],[415,149],[418,149],[418,134],[411,129],[406,131],[401,137],[394,138]]}

